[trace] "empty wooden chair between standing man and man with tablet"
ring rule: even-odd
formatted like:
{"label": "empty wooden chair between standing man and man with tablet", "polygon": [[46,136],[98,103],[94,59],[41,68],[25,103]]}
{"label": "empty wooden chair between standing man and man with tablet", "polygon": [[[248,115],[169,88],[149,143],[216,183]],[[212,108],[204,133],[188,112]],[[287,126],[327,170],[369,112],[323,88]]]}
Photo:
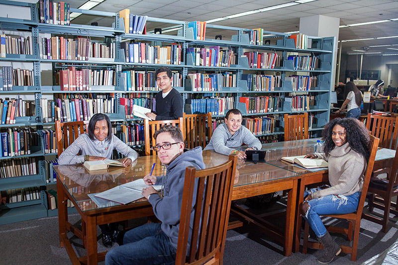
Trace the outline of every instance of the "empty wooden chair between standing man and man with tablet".
{"label": "empty wooden chair between standing man and man with tablet", "polygon": [[185,147],[194,148],[201,146],[205,148],[211,139],[211,112],[206,114],[183,113],[185,129]]}

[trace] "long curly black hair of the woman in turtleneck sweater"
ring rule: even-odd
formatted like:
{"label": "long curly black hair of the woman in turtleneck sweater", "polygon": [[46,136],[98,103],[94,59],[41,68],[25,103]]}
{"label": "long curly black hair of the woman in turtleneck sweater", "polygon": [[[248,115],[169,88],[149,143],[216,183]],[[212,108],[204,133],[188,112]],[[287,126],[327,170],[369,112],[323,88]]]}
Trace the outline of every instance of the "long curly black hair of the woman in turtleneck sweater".
{"label": "long curly black hair of the woman in turtleneck sweater", "polygon": [[340,125],[345,128],[345,137],[347,139],[350,147],[365,157],[366,160],[369,159],[369,131],[366,129],[365,125],[355,118],[336,118],[331,120],[326,124],[322,131],[323,151],[326,156],[329,156],[330,151],[333,150],[335,144],[332,140],[332,131],[334,126]]}

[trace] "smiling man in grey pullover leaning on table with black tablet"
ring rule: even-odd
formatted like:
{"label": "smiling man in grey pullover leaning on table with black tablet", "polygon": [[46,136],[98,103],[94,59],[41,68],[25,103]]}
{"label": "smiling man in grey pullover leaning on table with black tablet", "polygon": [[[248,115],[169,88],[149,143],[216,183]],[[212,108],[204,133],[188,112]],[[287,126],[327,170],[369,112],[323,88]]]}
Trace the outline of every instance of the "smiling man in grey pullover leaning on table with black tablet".
{"label": "smiling man in grey pullover leaning on table with black tablet", "polygon": [[[225,114],[225,123],[215,128],[210,142],[204,150],[212,150],[228,156],[229,154],[237,154],[238,158],[246,158],[246,150],[260,150],[261,142],[257,139],[249,129],[242,126],[242,113],[236,109],[228,110]],[[241,151],[240,146],[245,143],[248,148]],[[238,150],[236,150],[238,149]]]}

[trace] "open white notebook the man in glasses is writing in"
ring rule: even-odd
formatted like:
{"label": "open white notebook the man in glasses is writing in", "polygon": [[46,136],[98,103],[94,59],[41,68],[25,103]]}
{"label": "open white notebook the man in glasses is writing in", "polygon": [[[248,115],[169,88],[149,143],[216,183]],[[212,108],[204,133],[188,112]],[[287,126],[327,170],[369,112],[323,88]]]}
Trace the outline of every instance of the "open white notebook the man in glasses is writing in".
{"label": "open white notebook the man in glasses is writing in", "polygon": [[[157,191],[162,188],[162,185],[151,186]],[[146,187],[149,187],[149,185],[145,184],[144,180],[140,178],[98,193],[96,194],[96,197],[122,204],[127,204],[144,197],[141,192],[142,189]]]}

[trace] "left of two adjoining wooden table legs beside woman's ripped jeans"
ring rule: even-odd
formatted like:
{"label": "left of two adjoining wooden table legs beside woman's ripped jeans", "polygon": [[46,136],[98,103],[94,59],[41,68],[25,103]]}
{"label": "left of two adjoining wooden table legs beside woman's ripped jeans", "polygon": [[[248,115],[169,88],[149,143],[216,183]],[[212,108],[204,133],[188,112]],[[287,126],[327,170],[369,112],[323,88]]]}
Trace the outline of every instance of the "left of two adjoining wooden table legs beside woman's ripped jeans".
{"label": "left of two adjoining wooden table legs beside woman's ripped jeans", "polygon": [[285,248],[284,255],[292,255],[292,246],[295,231],[295,216],[296,216],[296,199],[297,199],[297,182],[293,180],[293,187],[288,192],[288,203],[286,207],[286,224],[285,224]]}

